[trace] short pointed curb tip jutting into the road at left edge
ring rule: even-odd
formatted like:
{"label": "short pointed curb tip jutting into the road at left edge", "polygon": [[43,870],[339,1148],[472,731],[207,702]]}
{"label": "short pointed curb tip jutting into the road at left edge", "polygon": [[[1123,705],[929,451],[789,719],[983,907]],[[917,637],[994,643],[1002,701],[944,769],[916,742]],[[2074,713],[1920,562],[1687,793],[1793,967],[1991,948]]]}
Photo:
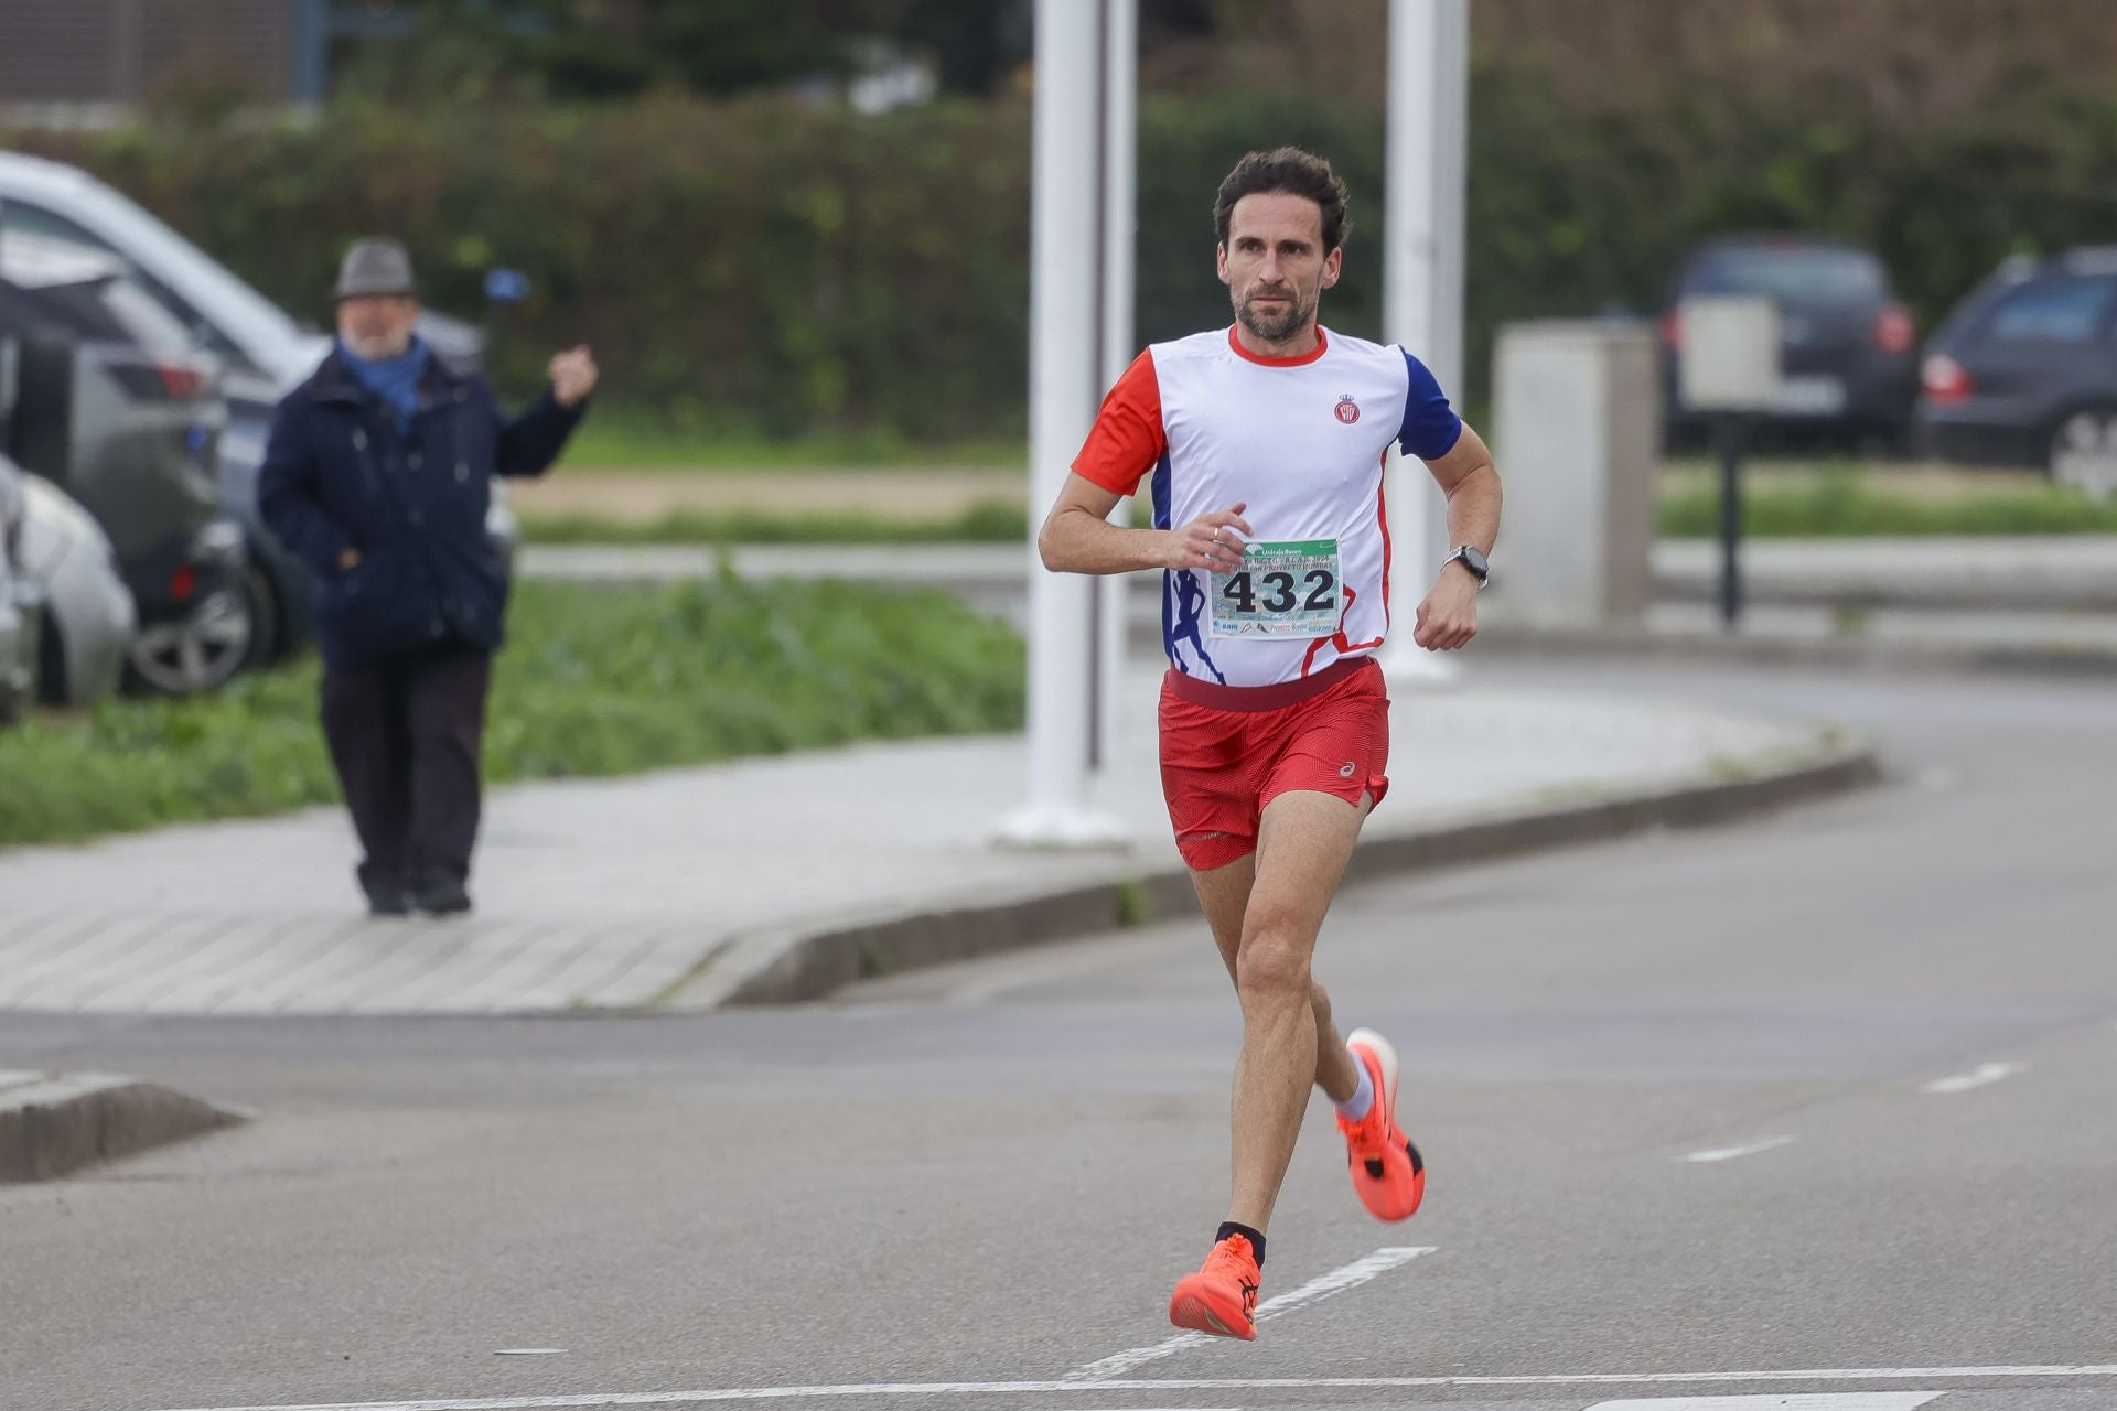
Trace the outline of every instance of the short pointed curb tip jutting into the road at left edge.
{"label": "short pointed curb tip jutting into the road at left edge", "polygon": [[246,1119],[116,1073],[0,1073],[0,1185],[51,1180]]}

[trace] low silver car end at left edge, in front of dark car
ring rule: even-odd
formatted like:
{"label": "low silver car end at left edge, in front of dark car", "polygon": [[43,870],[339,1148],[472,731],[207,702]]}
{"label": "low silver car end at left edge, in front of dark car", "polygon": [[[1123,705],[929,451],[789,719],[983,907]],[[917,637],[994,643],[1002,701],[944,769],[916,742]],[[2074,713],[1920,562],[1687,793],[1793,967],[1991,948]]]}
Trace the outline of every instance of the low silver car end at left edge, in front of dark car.
{"label": "low silver car end at left edge, in front of dark car", "polygon": [[[13,508],[8,508],[13,506]],[[133,601],[102,525],[55,484],[0,457],[0,520],[13,601],[34,626],[21,649],[36,698],[87,707],[114,694],[135,633]]]}

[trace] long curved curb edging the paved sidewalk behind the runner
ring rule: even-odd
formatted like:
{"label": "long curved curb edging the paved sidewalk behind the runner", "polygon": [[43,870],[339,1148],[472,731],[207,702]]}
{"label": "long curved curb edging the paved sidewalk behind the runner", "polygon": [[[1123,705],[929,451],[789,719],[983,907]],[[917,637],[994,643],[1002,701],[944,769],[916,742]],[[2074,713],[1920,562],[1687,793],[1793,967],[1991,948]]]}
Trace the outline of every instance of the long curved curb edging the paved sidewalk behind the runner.
{"label": "long curved curb edging the paved sidewalk behind the runner", "polygon": [[[1734,772],[1740,776],[1725,776]],[[1795,762],[1732,764],[1725,772],[1675,787],[1370,836],[1355,848],[1346,880],[1603,842],[1653,827],[1708,827],[1880,778],[1882,768],[1869,745],[1831,743]],[[1183,869],[1114,867],[1107,880],[1086,884],[963,893],[889,916],[773,927],[720,946],[690,977],[671,986],[663,1003],[675,1009],[794,1005],[857,979],[1075,939],[1194,908]]]}

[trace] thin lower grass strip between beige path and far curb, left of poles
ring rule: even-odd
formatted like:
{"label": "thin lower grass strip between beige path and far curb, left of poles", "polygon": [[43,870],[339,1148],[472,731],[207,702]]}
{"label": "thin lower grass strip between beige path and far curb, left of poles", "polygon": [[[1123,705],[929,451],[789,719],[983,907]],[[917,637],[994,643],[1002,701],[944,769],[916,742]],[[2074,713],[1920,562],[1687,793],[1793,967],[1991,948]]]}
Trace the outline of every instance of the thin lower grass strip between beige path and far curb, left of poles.
{"label": "thin lower grass strip between beige path and far curb, left of poles", "polygon": [[1029,512],[995,499],[946,518],[885,518],[864,510],[677,510],[652,520],[536,514],[523,516],[521,531],[527,544],[1023,544]]}

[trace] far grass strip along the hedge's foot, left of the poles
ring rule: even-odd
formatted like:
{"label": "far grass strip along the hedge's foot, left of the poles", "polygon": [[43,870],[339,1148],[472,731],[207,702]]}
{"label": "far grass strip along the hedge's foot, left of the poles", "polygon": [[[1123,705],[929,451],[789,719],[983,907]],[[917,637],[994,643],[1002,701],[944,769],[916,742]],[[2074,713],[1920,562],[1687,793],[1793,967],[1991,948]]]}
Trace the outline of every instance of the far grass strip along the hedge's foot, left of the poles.
{"label": "far grass strip along the hedge's foot, left of the poles", "polygon": [[754,432],[684,429],[625,408],[595,408],[574,432],[561,465],[582,472],[722,472],[749,470],[1025,470],[1025,438],[921,444],[895,432],[828,432],[773,440]]}

